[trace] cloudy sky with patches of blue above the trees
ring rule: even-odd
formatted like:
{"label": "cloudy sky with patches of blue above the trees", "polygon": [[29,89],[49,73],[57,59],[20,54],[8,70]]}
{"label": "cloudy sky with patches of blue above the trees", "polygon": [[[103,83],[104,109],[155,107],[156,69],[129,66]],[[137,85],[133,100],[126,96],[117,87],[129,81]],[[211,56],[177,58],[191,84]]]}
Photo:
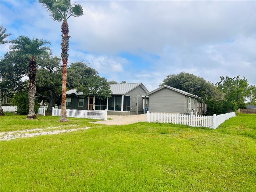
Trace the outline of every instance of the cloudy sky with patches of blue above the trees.
{"label": "cloudy sky with patches of blue above the trees", "polygon": [[[189,72],[214,84],[245,76],[256,84],[255,1],[75,1],[69,63],[84,61],[108,80],[142,82],[149,91],[168,74]],[[37,1],[0,1],[1,25],[43,37],[60,55],[61,23]],[[1,46],[1,56],[8,51]]]}

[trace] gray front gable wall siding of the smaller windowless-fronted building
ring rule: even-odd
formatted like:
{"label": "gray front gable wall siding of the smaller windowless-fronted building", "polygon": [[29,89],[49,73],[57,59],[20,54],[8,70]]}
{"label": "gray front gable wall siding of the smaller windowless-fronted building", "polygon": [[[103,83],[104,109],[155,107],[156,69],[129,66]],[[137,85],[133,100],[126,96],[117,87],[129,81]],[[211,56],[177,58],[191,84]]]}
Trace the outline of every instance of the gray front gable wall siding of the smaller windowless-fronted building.
{"label": "gray front gable wall siding of the smaller windowless-fronted building", "polygon": [[184,113],[185,95],[171,89],[161,89],[149,95],[149,112]]}

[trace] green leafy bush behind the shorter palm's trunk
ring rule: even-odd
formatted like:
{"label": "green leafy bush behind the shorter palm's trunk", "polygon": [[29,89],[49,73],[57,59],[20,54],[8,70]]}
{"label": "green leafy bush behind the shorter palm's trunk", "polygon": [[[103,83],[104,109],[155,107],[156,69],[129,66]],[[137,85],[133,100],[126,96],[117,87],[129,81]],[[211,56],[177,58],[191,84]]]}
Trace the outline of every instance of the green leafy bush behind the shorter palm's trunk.
{"label": "green leafy bush behind the shorter palm's trunk", "polygon": [[[12,98],[12,103],[17,106],[17,113],[20,115],[28,114],[28,94],[26,92],[17,93]],[[38,100],[35,100],[35,113],[38,112]]]}

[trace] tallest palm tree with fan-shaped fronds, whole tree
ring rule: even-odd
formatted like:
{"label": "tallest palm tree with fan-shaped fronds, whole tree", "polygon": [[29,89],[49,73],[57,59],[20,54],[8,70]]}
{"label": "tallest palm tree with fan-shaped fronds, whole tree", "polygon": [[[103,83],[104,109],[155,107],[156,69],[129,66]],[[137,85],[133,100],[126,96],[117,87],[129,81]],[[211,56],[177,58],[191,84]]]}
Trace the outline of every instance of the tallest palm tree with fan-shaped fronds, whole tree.
{"label": "tallest palm tree with fan-shaped fronds, whole tree", "polygon": [[69,26],[67,20],[69,17],[79,17],[83,15],[82,6],[78,3],[71,5],[70,0],[39,0],[43,6],[51,13],[52,20],[62,22],[61,32],[61,57],[62,57],[62,102],[61,102],[61,122],[68,122],[66,114],[66,87],[67,87],[67,63],[69,49]]}

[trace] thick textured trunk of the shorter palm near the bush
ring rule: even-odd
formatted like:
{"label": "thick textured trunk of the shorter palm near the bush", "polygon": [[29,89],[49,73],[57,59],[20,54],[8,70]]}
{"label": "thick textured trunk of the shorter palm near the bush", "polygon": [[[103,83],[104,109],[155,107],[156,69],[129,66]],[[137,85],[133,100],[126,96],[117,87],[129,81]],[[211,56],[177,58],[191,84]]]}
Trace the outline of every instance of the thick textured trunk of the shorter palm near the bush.
{"label": "thick textured trunk of the shorter palm near the bush", "polygon": [[37,62],[34,56],[31,57],[28,66],[29,88],[28,88],[28,115],[27,119],[36,119],[35,114],[35,93],[36,93],[36,75],[37,75]]}

